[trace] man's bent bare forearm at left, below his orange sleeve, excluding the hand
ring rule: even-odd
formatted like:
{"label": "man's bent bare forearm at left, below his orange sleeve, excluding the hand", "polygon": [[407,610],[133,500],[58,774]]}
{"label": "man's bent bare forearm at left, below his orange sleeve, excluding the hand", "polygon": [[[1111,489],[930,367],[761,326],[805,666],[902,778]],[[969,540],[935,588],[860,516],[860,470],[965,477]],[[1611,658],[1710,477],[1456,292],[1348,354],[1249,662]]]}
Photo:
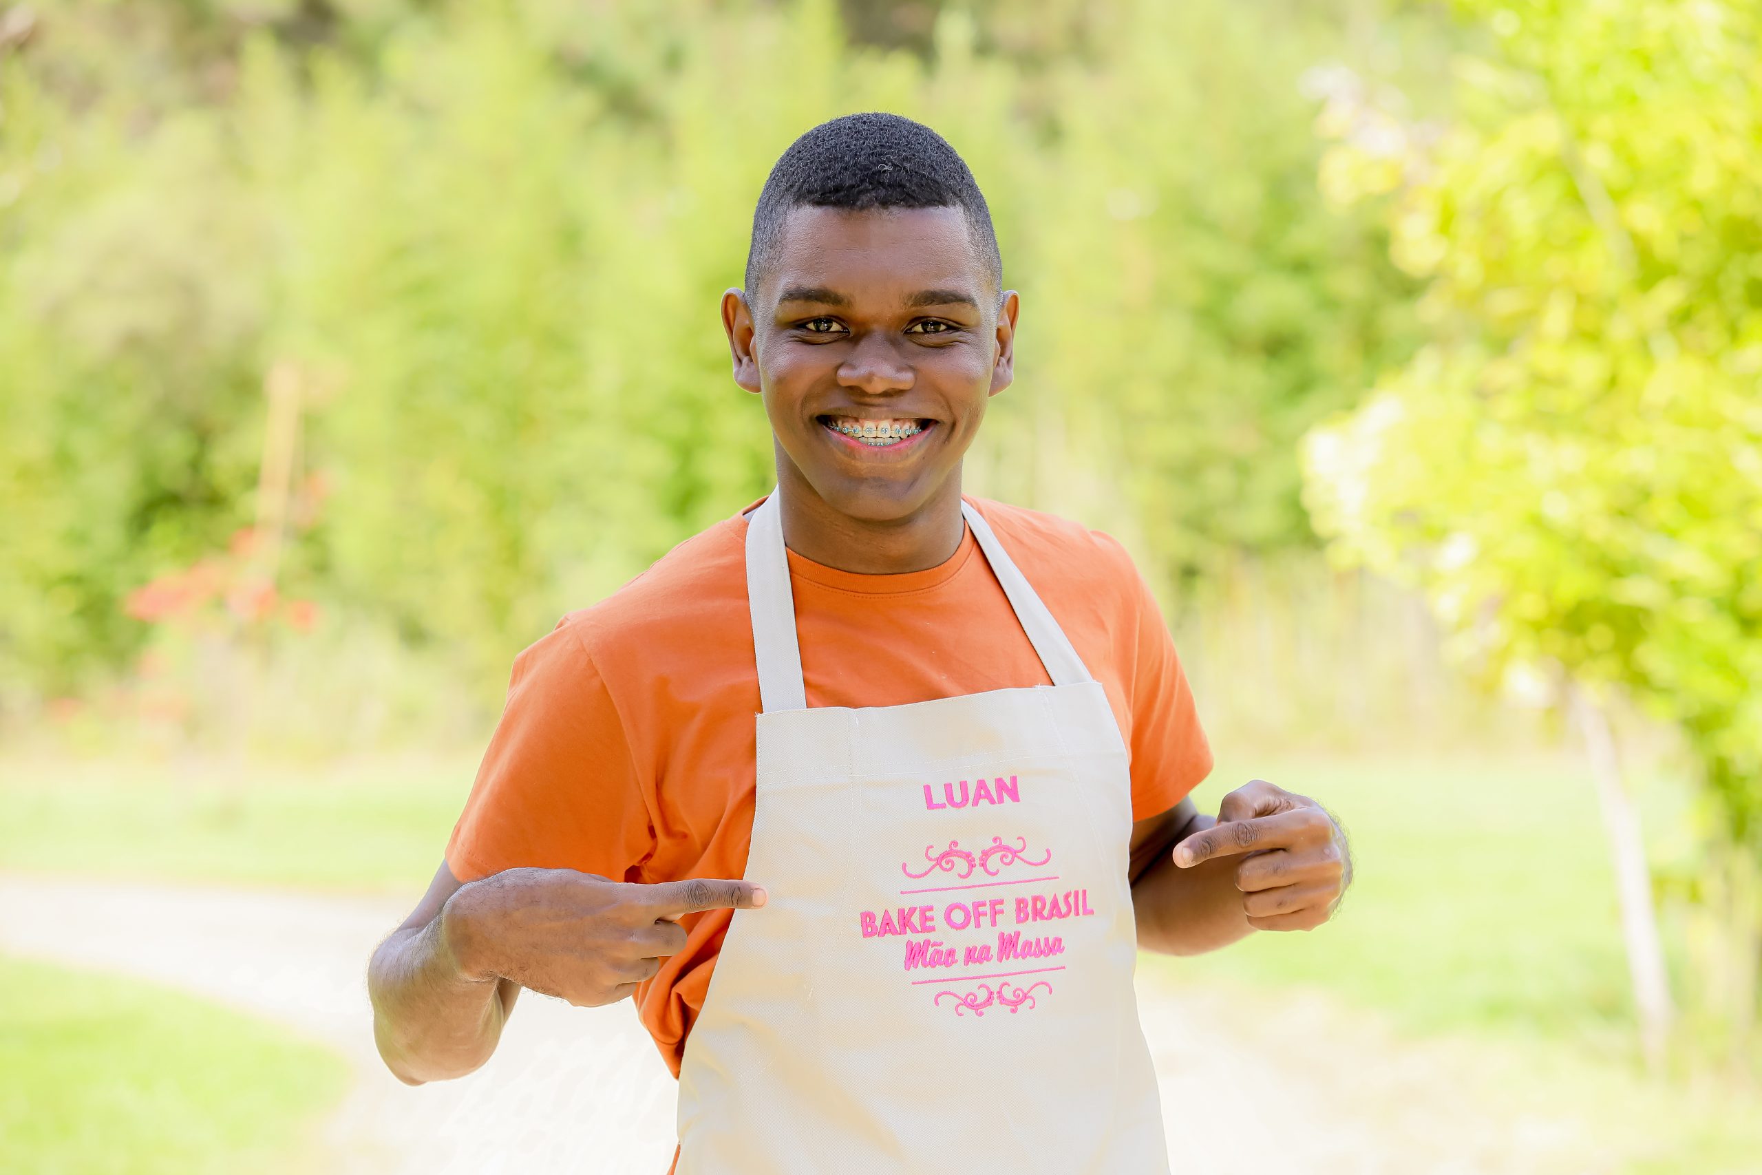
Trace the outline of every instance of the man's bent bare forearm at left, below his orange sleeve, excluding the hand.
{"label": "man's bent bare forearm at left, below his orange sleeve, excluding the hand", "polygon": [[476,979],[444,935],[444,918],[396,930],[368,964],[374,1041],[400,1082],[419,1085],[470,1073],[495,1052],[518,985]]}

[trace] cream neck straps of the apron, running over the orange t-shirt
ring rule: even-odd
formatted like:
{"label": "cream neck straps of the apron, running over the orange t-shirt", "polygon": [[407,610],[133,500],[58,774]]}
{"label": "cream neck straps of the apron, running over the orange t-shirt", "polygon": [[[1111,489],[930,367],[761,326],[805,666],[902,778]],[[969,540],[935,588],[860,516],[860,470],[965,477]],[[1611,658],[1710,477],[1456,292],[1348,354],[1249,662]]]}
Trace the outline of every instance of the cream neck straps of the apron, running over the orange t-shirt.
{"label": "cream neck straps of the apron, running over the orange t-shirt", "polygon": [[[1064,629],[1040,601],[1027,578],[1003,550],[990,523],[966,500],[960,514],[973,528],[992,574],[1003,585],[1017,622],[1040,654],[1054,685],[1092,682]],[[795,592],[789,587],[789,555],[782,543],[782,509],[777,490],[747,514],[747,604],[752,610],[752,652],[759,669],[759,705],[775,710],[807,710],[802,685],[802,645],[795,629]]]}

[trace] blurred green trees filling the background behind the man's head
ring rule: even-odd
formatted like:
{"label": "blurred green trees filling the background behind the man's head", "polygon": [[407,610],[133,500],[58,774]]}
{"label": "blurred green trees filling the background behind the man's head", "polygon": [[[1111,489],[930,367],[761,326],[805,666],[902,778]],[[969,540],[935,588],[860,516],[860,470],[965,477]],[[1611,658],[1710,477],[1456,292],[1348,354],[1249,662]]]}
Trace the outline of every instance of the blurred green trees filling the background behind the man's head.
{"label": "blurred green trees filling the background behind the man's head", "polygon": [[1413,345],[1376,218],[1314,183],[1341,12],[902,4],[858,42],[825,2],[53,5],[0,33],[0,678],[129,664],[129,592],[254,521],[285,366],[328,490],[285,587],[493,696],[768,486],[715,299],[770,164],[853,109],[990,197],[1024,292],[994,491],[1057,506],[1075,453],[1170,576],[1307,548],[1295,439]]}

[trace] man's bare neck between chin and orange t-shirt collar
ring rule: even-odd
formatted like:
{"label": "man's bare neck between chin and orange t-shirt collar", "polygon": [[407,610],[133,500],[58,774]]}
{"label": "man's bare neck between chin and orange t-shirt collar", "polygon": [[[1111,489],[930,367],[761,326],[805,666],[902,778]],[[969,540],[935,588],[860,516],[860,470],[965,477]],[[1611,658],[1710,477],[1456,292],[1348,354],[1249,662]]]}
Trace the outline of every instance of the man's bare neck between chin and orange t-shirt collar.
{"label": "man's bare neck between chin and orange t-shirt collar", "polygon": [[800,470],[779,470],[782,539],[816,564],[867,576],[937,567],[960,550],[960,467],[904,518],[872,521],[844,514],[821,499]]}

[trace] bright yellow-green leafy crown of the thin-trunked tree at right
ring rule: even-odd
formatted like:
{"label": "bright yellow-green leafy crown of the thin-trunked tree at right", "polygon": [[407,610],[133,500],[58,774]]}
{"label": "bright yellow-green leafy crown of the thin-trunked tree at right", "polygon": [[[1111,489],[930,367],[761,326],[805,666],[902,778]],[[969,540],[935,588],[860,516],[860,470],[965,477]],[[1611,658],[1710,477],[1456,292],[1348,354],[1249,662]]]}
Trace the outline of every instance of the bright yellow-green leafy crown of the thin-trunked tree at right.
{"label": "bright yellow-green leafy crown of the thin-trunked tree at right", "polygon": [[[1491,673],[1558,666],[1679,728],[1762,955],[1762,11],[1462,0],[1494,39],[1427,127],[1353,79],[1343,199],[1380,197],[1427,345],[1309,444],[1336,551],[1424,585]],[[1723,888],[1723,891],[1721,891]]]}

